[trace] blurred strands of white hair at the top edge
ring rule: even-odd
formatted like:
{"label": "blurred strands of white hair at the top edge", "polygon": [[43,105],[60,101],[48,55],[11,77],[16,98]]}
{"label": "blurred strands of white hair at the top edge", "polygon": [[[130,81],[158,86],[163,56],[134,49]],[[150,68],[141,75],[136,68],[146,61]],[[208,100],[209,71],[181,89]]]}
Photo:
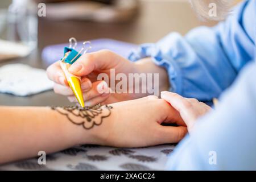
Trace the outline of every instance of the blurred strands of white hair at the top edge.
{"label": "blurred strands of white hair at the top edge", "polygon": [[[193,9],[201,19],[223,20],[230,13],[234,0],[190,0]],[[216,7],[216,16],[209,14],[210,5]]]}

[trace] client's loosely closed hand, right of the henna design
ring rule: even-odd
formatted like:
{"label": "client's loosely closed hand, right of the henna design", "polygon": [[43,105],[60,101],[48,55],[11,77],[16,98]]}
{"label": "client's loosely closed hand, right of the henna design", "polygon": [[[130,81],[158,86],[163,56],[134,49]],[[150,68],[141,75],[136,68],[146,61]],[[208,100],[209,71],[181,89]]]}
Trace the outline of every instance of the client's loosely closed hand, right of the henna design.
{"label": "client's loosely closed hand, right of the henna design", "polygon": [[[91,130],[96,144],[115,147],[153,146],[177,143],[187,133],[179,113],[158,97],[148,96],[110,106],[113,108],[110,109],[109,117],[104,118],[101,126]],[[162,126],[163,122],[180,126]]]}

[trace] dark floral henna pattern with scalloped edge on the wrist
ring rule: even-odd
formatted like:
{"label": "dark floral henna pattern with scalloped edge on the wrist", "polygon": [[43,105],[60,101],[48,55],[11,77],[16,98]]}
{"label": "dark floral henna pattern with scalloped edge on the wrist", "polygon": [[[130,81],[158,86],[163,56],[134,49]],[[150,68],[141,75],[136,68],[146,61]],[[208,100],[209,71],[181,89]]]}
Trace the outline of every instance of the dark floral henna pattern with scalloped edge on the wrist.
{"label": "dark floral henna pattern with scalloped edge on the wrist", "polygon": [[86,130],[92,129],[94,125],[101,125],[103,119],[110,116],[112,108],[112,106],[108,105],[51,107],[58,113],[67,116],[69,121],[75,125],[82,125]]}

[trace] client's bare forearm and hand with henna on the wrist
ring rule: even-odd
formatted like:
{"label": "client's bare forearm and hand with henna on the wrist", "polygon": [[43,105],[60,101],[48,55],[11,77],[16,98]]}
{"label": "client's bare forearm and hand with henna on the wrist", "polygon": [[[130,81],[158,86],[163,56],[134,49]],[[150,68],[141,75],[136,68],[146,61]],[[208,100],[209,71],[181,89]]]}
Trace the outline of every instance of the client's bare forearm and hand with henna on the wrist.
{"label": "client's bare forearm and hand with henna on the wrist", "polygon": [[[142,147],[177,143],[187,133],[179,113],[155,96],[104,105],[94,114],[90,108],[86,112],[69,109],[1,106],[0,164],[77,144]],[[147,114],[141,117],[141,113]],[[179,126],[162,126],[163,122]]]}

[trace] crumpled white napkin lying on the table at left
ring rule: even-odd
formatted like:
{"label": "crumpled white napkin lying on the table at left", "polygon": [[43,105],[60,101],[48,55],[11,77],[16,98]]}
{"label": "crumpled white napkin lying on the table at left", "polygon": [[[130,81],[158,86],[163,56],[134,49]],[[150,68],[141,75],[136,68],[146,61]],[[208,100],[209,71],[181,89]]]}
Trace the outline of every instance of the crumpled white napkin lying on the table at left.
{"label": "crumpled white napkin lying on the table at left", "polygon": [[25,64],[8,64],[0,67],[0,92],[15,96],[30,96],[53,88],[44,69]]}

